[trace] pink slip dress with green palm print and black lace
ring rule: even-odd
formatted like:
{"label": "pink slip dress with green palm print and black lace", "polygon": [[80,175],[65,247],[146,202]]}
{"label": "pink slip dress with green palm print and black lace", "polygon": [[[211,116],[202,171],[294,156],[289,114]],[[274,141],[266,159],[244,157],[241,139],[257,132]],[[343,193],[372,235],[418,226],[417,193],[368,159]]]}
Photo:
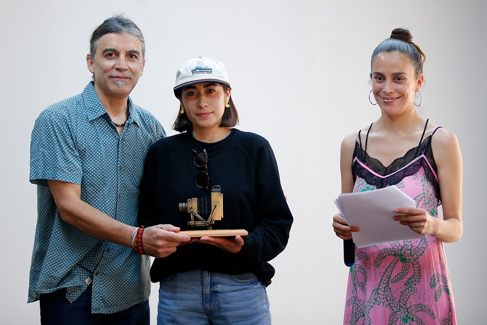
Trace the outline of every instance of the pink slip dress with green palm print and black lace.
{"label": "pink slip dress with green palm print and black lace", "polygon": [[[354,192],[394,185],[414,199],[417,208],[438,217],[441,201],[431,138],[440,127],[423,140],[427,125],[428,120],[419,145],[389,166],[383,166],[366,152],[372,124],[367,132],[365,150],[359,131],[352,162]],[[423,239],[356,248],[343,323],[455,325],[453,292],[443,242],[426,235]]]}

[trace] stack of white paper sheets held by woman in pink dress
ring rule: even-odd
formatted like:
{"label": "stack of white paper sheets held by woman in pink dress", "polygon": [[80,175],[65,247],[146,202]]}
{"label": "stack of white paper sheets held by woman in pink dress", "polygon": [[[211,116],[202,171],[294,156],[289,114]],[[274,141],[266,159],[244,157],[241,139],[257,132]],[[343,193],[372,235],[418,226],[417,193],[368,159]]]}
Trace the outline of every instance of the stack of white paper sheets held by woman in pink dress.
{"label": "stack of white paper sheets held by woman in pink dress", "polygon": [[358,248],[396,240],[424,238],[408,226],[393,219],[397,208],[416,208],[412,198],[395,186],[374,191],[342,193],[335,200],[338,210],[350,226],[359,227],[352,232]]}

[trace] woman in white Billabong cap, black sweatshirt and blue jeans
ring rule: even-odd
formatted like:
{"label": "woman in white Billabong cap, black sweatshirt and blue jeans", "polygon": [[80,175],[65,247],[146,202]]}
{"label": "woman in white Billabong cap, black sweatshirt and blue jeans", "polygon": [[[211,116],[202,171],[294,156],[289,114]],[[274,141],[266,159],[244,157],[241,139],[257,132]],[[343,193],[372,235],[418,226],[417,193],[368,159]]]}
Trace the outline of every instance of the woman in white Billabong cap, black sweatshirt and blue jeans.
{"label": "woman in white Billabong cap, black sweatshirt and blue jeans", "polygon": [[193,238],[156,258],[150,277],[160,282],[158,324],[270,324],[268,261],[285,248],[293,221],[272,149],[261,136],[233,129],[238,114],[221,62],[185,62],[174,94],[181,105],[173,128],[181,134],[149,150],[139,223],[202,229],[188,225],[190,214],[179,204],[208,202],[218,191],[224,217],[212,228],[246,229],[248,236]]}

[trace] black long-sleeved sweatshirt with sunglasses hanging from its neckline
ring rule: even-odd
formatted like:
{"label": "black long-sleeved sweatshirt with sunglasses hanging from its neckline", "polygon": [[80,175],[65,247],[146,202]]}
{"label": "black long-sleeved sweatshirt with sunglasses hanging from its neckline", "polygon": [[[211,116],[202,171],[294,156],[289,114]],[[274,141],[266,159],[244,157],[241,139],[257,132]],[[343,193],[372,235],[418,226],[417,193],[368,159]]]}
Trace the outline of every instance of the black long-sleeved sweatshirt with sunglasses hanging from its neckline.
{"label": "black long-sleeved sweatshirt with sunglasses hanging from its neckline", "polygon": [[293,216],[281,188],[274,153],[260,135],[232,129],[222,141],[204,143],[186,132],[154,143],[147,153],[140,184],[139,225],[206,229],[188,226],[189,213],[178,208],[188,198],[210,197],[210,190],[195,184],[204,168],[194,164],[193,150],[203,149],[208,155],[209,188],[220,185],[224,194],[224,218],[215,221],[212,228],[245,229],[249,234],[237,254],[201,243],[178,247],[168,257],[154,260],[150,279],[158,282],[199,268],[226,274],[253,272],[268,286],[275,273],[268,261],[286,247]]}

